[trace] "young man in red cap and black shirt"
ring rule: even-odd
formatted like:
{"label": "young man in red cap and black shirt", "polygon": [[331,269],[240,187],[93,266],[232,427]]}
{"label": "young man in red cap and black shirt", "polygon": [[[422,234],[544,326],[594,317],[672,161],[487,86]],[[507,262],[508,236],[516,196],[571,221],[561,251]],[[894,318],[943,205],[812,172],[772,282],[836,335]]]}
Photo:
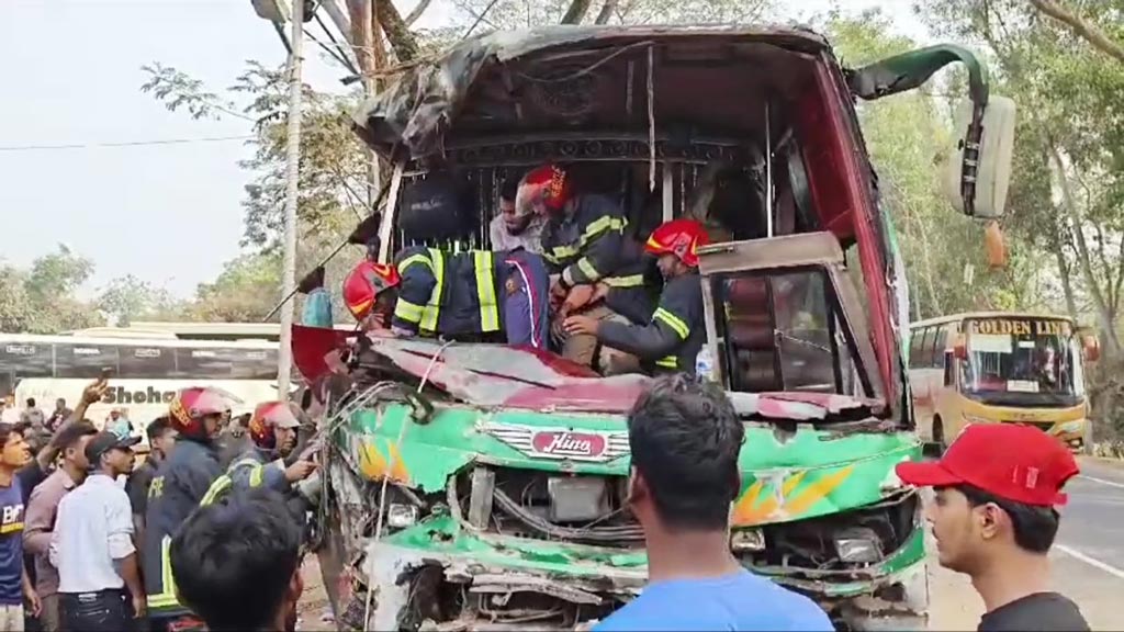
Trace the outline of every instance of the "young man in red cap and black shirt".
{"label": "young man in red cap and black shirt", "polygon": [[897,466],[903,481],[933,488],[925,520],[941,566],[968,575],[984,599],[980,631],[1089,629],[1073,602],[1048,588],[1055,507],[1076,473],[1058,440],[1014,424],[969,425],[940,461]]}

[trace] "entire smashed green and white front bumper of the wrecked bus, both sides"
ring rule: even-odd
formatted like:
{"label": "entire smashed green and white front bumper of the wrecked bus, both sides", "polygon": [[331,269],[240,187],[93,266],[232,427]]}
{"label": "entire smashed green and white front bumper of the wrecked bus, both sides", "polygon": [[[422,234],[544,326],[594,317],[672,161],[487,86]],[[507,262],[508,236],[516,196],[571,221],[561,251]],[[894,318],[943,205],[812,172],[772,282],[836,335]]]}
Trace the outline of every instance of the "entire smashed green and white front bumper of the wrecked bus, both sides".
{"label": "entire smashed green and white front bumper of the wrecked bus, both sides", "polygon": [[[918,532],[918,536],[921,533]],[[640,594],[643,551],[472,533],[446,518],[366,547],[370,630],[588,630]],[[754,568],[815,599],[844,630],[923,630],[924,543],[853,574]]]}

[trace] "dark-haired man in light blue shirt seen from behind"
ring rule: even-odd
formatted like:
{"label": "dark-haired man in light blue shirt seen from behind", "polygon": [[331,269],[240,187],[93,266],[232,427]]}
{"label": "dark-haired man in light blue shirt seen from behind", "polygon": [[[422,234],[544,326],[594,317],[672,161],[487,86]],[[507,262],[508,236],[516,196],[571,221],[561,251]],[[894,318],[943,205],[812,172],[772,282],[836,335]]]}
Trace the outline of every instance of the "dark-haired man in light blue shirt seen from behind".
{"label": "dark-haired man in light blue shirt seen from behind", "polygon": [[744,433],[713,382],[668,376],[637,398],[628,502],[644,527],[649,585],[595,632],[834,630],[814,602],[749,572],[729,551]]}

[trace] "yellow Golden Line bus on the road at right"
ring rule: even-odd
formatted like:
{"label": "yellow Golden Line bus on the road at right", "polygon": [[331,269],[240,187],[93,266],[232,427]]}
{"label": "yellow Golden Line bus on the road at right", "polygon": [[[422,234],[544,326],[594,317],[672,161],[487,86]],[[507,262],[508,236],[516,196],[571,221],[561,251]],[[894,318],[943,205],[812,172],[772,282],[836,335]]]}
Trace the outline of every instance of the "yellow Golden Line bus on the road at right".
{"label": "yellow Golden Line bus on the road at right", "polygon": [[914,323],[917,430],[943,451],[967,424],[1027,424],[1080,450],[1089,423],[1085,362],[1098,349],[1068,316],[979,312]]}

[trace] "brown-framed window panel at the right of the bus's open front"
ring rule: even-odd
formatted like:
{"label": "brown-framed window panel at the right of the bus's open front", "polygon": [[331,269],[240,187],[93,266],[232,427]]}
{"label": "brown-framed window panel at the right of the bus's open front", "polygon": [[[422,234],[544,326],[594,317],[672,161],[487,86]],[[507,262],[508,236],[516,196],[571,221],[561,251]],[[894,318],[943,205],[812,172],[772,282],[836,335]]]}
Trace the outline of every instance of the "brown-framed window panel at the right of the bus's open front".
{"label": "brown-framed window panel at the right of the bus's open front", "polygon": [[862,395],[886,405],[870,326],[834,235],[714,244],[699,260],[707,344],[727,389]]}

